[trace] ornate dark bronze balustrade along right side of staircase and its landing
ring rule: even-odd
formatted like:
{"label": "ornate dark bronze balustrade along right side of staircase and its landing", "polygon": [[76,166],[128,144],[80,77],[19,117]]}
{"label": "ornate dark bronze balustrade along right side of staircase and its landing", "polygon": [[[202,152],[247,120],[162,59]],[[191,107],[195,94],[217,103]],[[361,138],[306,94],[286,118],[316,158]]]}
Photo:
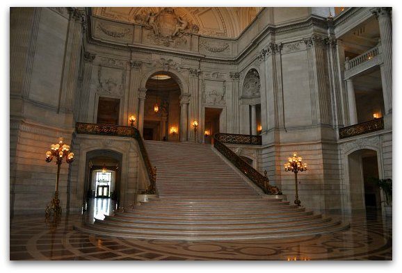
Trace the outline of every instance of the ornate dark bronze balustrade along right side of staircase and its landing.
{"label": "ornate dark bronze balustrade along right side of staircase and its landing", "polygon": [[259,188],[262,188],[266,194],[270,195],[282,195],[282,192],[275,185],[270,185],[269,179],[266,176],[260,174],[257,169],[254,169],[246,163],[240,156],[234,151],[229,149],[225,143],[231,144],[252,144],[260,145],[262,143],[261,135],[236,135],[232,133],[216,133],[214,135],[214,147],[223,154],[225,158],[237,167],[248,179],[254,182]]}

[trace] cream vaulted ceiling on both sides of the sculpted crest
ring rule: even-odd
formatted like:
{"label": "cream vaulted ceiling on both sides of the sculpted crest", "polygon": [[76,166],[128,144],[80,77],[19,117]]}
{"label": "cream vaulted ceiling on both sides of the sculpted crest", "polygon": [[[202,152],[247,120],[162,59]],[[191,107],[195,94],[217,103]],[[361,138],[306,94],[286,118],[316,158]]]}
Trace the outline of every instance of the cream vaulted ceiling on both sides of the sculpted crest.
{"label": "cream vaulted ceiling on both sides of the sculpted crest", "polygon": [[[93,15],[119,22],[135,24],[139,17],[158,13],[159,7],[112,7],[92,8]],[[176,7],[175,13],[188,22],[196,24],[201,35],[236,38],[255,18],[262,8]]]}

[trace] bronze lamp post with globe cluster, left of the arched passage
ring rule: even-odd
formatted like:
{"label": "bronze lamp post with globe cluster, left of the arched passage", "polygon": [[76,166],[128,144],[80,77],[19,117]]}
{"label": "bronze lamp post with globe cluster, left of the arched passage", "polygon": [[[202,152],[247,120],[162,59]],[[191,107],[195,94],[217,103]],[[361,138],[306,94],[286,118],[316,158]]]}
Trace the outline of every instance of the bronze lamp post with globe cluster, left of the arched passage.
{"label": "bronze lamp post with globe cluster, left of the arched passage", "polygon": [[69,164],[74,161],[74,154],[70,152],[70,145],[64,144],[63,138],[58,138],[58,143],[51,144],[50,151],[46,152],[46,162],[51,162],[54,157],[56,157],[57,165],[56,192],[54,192],[54,198],[46,207],[46,217],[49,217],[52,211],[54,215],[61,215],[60,200],[58,199],[58,179],[60,177],[60,166],[63,162],[63,158],[65,158],[65,161]]}

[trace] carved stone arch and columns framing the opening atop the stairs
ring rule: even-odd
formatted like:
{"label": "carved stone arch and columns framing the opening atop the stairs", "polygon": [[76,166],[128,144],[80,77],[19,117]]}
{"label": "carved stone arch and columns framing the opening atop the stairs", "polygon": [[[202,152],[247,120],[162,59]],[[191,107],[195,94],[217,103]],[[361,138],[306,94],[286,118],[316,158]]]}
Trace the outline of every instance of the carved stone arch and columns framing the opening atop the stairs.
{"label": "carved stone arch and columns framing the opening atop the stairs", "polygon": [[[166,75],[172,78],[179,86],[179,122],[171,127],[168,126],[167,133],[173,133],[175,129],[177,130],[177,141],[187,141],[188,140],[188,104],[190,103],[190,93],[188,92],[188,84],[184,80],[181,74],[171,72],[168,70],[163,70],[160,68],[152,69],[143,76],[143,80],[140,84],[139,96],[138,96],[138,130],[141,135],[144,135],[144,120],[145,120],[145,99],[147,98],[147,90],[150,87],[149,81],[155,75]],[[163,137],[163,135],[162,135]],[[167,138],[168,139],[168,138]]]}

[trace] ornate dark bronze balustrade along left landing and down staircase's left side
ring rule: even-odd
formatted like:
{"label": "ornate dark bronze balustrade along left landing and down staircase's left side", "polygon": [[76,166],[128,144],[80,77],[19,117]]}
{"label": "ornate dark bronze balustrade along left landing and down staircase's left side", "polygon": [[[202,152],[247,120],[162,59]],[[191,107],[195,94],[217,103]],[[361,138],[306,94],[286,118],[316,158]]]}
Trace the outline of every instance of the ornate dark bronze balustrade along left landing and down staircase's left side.
{"label": "ornate dark bronze balustrade along left landing and down staircase's left side", "polygon": [[151,165],[147,149],[145,149],[143,138],[138,129],[131,126],[77,122],[77,124],[75,124],[75,131],[77,133],[85,133],[88,135],[113,135],[134,138],[137,140],[138,146],[140,147],[140,154],[143,157],[145,167],[147,168],[147,174],[150,179],[150,188],[147,189],[147,194],[152,195],[156,193],[156,168],[153,168]]}

